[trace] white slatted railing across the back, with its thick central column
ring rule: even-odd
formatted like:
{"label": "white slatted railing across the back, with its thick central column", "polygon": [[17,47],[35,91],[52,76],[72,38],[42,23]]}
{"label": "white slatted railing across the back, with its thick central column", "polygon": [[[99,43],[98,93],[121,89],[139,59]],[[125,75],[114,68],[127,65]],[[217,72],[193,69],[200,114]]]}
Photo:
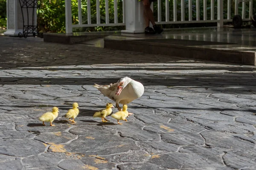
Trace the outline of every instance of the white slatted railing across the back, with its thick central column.
{"label": "white slatted railing across the back, with its thick central column", "polygon": [[[72,29],[76,27],[95,27],[95,26],[125,26],[129,29],[137,29],[140,31],[144,30],[144,20],[143,17],[143,6],[138,0],[122,0],[122,12],[123,18],[122,21],[118,21],[118,9],[117,9],[117,0],[105,0],[105,23],[100,22],[100,0],[85,0],[87,2],[87,23],[82,23],[82,9],[81,9],[81,0],[78,0],[78,24],[72,24],[72,8],[71,0],[65,0],[65,13],[66,13],[66,33],[72,33]],[[91,1],[96,1],[96,23],[91,23]],[[114,23],[109,22],[109,11],[108,3],[109,1],[114,2]],[[223,18],[223,3],[224,0],[210,0],[210,19],[207,19],[207,0],[196,0],[196,4],[192,4],[192,0],[188,0],[188,11],[189,17],[188,20],[185,20],[185,0],[180,0],[180,4],[177,4],[177,0],[163,0],[165,1],[165,21],[162,20],[162,0],[157,0],[157,24],[181,24],[181,23],[218,23],[218,27],[222,27],[224,22],[231,22],[231,3],[235,2],[234,15],[238,14],[239,4],[242,3],[242,19],[243,21],[249,21],[250,17],[253,14],[253,0],[225,0],[227,3],[227,18]],[[169,6],[169,1],[173,1],[172,7]],[[215,18],[215,1],[217,1],[217,18]],[[203,20],[200,19],[200,2],[203,2]],[[245,13],[246,3],[249,3],[249,14]],[[177,20],[177,5],[180,5],[180,20]],[[196,6],[196,18],[192,18],[192,5]],[[138,7],[137,7],[138,6]],[[153,6],[151,6],[152,8]],[[156,11],[154,11],[156,12]],[[170,20],[169,14],[173,12],[173,19]],[[128,18],[127,21],[125,20]],[[137,21],[139,20],[139,21]],[[126,22],[125,22],[126,21]],[[137,24],[135,27],[131,27],[131,24]],[[141,27],[141,28],[139,28]],[[140,31],[132,30],[132,33],[138,33]],[[128,31],[129,32],[129,31]]]}

